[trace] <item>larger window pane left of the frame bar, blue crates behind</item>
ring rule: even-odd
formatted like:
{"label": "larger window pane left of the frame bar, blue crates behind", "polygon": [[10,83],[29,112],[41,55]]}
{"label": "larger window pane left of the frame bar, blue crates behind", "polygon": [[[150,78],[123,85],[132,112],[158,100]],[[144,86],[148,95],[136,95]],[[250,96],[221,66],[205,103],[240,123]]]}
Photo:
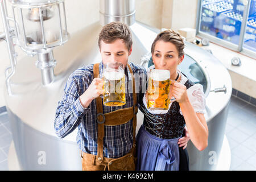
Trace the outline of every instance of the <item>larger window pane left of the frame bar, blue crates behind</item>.
{"label": "larger window pane left of the frame bar, blue crates behind", "polygon": [[239,43],[244,0],[202,0],[200,31]]}

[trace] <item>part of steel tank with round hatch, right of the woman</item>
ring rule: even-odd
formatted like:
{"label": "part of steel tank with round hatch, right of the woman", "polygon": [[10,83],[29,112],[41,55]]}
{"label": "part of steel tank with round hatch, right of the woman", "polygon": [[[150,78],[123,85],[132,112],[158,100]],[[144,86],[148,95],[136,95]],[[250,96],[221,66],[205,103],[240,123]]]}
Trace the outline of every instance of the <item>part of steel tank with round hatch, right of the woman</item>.
{"label": "part of steel tank with round hatch, right of the woman", "polygon": [[[206,96],[205,119],[209,129],[208,147],[204,151],[197,150],[191,140],[189,141],[187,147],[189,167],[191,170],[218,169],[217,165],[220,162],[218,158],[222,149],[229,101],[232,94],[232,80],[224,65],[208,51],[187,42],[185,53],[185,59],[180,64],[180,70],[190,80],[195,83],[198,82],[204,87]],[[226,88],[225,92],[210,92],[210,90],[223,88]],[[226,160],[228,161],[228,159]]]}

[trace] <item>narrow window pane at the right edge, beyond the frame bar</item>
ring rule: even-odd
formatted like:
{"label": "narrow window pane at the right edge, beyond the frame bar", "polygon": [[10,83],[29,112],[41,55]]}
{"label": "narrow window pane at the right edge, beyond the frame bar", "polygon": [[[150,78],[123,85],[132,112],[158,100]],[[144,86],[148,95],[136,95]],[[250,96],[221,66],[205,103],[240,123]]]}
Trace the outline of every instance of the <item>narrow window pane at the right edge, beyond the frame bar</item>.
{"label": "narrow window pane at the right edge, beyond the frame bar", "polygon": [[256,0],[251,0],[243,48],[256,52]]}

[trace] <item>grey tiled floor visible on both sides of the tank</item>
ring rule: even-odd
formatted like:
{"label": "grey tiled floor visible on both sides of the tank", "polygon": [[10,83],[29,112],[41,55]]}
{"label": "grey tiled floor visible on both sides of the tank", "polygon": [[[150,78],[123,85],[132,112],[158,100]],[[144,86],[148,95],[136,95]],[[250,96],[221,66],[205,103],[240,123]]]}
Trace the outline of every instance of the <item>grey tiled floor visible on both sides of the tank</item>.
{"label": "grey tiled floor visible on both sides of the tank", "polygon": [[[231,150],[230,170],[256,170],[256,107],[231,98],[226,137]],[[0,171],[9,170],[7,155],[12,140],[7,113],[0,114]]]}

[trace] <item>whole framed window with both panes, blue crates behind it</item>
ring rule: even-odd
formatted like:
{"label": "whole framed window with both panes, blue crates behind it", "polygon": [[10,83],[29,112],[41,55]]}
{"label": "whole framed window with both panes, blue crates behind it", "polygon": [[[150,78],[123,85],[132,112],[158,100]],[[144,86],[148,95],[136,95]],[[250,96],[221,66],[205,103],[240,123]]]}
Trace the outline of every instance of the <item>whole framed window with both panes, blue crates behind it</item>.
{"label": "whole framed window with both panes, blue crates behind it", "polygon": [[256,0],[200,0],[197,35],[256,56]]}

